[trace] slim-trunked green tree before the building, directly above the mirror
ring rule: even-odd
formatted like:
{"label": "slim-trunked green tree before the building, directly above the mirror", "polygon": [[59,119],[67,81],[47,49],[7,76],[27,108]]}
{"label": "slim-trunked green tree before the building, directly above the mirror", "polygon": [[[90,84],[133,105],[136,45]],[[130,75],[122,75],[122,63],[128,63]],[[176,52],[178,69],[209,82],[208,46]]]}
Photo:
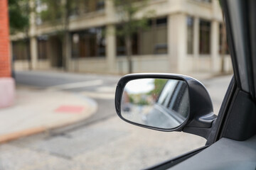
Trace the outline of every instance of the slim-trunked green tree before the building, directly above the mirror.
{"label": "slim-trunked green tree before the building, directly above the mirror", "polygon": [[128,71],[132,73],[132,35],[138,30],[147,28],[148,18],[154,16],[154,11],[144,11],[142,18],[137,18],[137,13],[142,11],[148,0],[112,0],[120,16],[120,29],[117,35],[125,40],[125,48],[128,62]]}

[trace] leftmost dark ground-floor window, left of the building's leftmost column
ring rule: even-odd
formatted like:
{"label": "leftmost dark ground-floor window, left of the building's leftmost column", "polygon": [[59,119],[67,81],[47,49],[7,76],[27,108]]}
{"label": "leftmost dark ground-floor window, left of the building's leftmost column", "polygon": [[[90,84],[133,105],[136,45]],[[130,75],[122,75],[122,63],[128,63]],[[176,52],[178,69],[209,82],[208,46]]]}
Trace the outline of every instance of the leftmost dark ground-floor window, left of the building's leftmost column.
{"label": "leftmost dark ground-floor window, left of the building's leftmost column", "polygon": [[14,60],[30,60],[30,42],[28,39],[12,42]]}

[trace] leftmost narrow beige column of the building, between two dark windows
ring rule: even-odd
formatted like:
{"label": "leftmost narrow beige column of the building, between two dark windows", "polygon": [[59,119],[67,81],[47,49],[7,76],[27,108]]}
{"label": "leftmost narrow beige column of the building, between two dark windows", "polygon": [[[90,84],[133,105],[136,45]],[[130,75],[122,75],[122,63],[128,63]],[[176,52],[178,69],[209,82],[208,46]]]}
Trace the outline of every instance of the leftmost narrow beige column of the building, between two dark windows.
{"label": "leftmost narrow beige column of the building, between two dark windows", "polygon": [[38,42],[36,37],[30,38],[30,49],[31,49],[31,67],[36,69],[38,64]]}

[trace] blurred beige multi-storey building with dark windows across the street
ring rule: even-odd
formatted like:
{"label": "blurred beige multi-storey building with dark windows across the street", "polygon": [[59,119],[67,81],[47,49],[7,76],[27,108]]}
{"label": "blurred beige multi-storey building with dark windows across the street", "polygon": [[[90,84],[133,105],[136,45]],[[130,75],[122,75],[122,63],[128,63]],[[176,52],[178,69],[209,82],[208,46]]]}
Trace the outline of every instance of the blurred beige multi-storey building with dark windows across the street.
{"label": "blurred beige multi-storey building with dark windows across the street", "polygon": [[[14,69],[65,67],[70,72],[127,73],[124,38],[115,34],[120,18],[112,1],[77,7],[68,25],[67,59],[63,59],[56,28],[31,13],[29,38],[24,40],[23,33],[11,38]],[[154,18],[149,19],[148,29],[132,38],[134,72],[220,72],[222,13],[218,0],[151,0],[144,10],[154,10]],[[229,55],[224,61],[229,72]]]}

